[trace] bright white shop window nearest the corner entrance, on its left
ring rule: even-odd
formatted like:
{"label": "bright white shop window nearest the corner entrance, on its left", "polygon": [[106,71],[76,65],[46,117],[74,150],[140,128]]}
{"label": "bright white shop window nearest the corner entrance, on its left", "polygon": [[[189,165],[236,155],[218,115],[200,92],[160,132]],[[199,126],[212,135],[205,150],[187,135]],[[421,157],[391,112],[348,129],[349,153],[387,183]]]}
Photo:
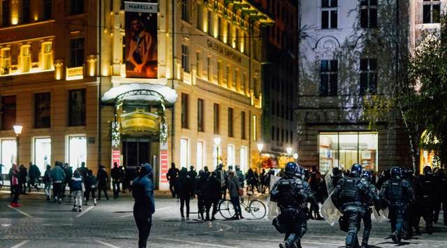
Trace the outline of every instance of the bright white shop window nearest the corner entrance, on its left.
{"label": "bright white shop window nearest the corner entrance, on its left", "polygon": [[68,136],[67,140],[68,163],[74,169],[81,166],[82,162],[87,162],[87,137],[85,135]]}

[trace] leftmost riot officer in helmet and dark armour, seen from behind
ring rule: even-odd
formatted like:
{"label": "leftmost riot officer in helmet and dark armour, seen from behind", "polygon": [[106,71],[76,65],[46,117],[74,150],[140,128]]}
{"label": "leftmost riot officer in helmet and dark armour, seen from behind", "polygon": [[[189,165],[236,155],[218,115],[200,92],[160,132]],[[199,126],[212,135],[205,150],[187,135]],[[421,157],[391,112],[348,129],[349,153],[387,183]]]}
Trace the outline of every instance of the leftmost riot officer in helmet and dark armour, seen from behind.
{"label": "leftmost riot officer in helmet and dark armour, seen from behind", "polygon": [[[298,165],[295,162],[286,164],[284,177],[278,180],[272,188],[271,197],[276,198],[281,214],[278,216],[279,225],[283,227],[286,237],[280,243],[280,248],[300,247],[302,222],[306,218],[303,203],[309,191],[308,184],[297,177]],[[275,193],[276,192],[276,193]]]}

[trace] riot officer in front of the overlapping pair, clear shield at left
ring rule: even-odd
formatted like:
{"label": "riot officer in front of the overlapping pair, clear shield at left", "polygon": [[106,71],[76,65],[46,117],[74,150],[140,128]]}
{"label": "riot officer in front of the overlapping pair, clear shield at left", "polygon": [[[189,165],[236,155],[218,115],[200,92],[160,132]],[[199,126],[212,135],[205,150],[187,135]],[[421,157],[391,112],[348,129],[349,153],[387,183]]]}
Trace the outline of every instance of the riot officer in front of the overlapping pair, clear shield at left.
{"label": "riot officer in front of the overlapping pair, clear shield at left", "polygon": [[352,165],[349,176],[340,179],[331,196],[334,206],[343,213],[343,217],[349,223],[346,248],[357,247],[359,243],[357,227],[369,191],[369,186],[360,180],[361,173],[362,166],[360,164]]}

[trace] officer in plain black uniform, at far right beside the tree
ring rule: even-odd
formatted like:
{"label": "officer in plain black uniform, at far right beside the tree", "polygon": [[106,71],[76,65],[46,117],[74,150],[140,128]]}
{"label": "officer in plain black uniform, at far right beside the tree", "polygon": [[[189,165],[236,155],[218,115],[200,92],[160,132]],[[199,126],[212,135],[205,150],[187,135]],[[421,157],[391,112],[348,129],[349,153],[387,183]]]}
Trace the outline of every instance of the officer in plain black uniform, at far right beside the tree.
{"label": "officer in plain black uniform, at far right beside the tree", "polygon": [[418,204],[428,234],[433,234],[433,211],[435,210],[438,190],[432,168],[430,166],[424,167],[424,175],[421,175],[418,182]]}

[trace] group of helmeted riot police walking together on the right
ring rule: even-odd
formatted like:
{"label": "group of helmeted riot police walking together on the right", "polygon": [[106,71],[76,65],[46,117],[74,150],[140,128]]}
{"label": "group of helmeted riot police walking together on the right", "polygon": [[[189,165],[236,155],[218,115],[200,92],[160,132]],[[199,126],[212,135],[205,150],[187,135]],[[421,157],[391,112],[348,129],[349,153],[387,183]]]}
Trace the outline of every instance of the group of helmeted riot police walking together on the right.
{"label": "group of helmeted riot police walking together on the right", "polygon": [[[317,175],[307,176],[307,170],[290,162],[286,165],[282,178],[270,191],[271,200],[278,203],[280,215],[273,221],[277,230],[286,234],[280,248],[300,248],[300,238],[306,232],[309,216],[319,212],[318,202],[324,201],[324,194],[318,199],[319,187],[312,189],[312,179],[320,186],[326,185]],[[340,229],[347,232],[347,248],[368,248],[372,230],[372,214],[386,214],[391,224],[391,238],[400,245],[402,239],[411,239],[421,235],[419,223],[421,217],[426,224],[426,233],[433,234],[433,223],[438,222],[440,209],[444,211],[443,221],[447,225],[447,192],[438,190],[447,187],[447,176],[443,169],[426,166],[423,174],[417,176],[412,168],[393,167],[383,171],[375,179],[373,174],[354,164],[350,171],[333,169],[327,187],[329,200],[340,213]],[[315,181],[314,181],[315,182]],[[315,202],[316,201],[316,202]],[[326,203],[324,203],[326,204]],[[312,208],[314,208],[312,210]],[[314,216],[315,217],[315,216]],[[319,214],[316,215],[319,219]],[[364,224],[362,243],[357,233]]]}

